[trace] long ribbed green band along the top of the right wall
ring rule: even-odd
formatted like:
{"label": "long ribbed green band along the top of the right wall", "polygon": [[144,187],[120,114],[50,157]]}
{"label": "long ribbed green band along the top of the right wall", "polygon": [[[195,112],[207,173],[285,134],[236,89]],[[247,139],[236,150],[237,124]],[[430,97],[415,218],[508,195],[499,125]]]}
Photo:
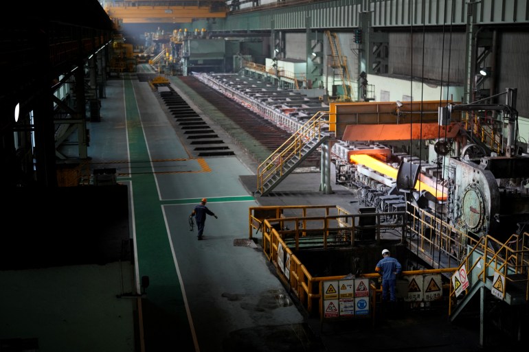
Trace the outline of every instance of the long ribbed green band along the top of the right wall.
{"label": "long ribbed green band along the top of the right wall", "polygon": [[[360,14],[370,14],[371,27],[528,23],[528,0],[337,0],[256,10],[229,16],[218,30],[303,30],[307,27],[359,27]],[[310,19],[310,21],[307,21]],[[216,28],[215,28],[216,30]]]}

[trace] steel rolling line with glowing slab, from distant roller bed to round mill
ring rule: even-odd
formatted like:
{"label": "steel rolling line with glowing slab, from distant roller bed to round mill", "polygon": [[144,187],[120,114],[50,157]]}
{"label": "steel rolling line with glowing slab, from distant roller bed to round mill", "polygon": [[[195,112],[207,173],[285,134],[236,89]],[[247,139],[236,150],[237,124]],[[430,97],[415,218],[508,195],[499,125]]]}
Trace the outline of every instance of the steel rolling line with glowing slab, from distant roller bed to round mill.
{"label": "steel rolling line with glowing slab, from distant roller bed to round mill", "polygon": [[[332,137],[336,182],[356,189],[363,207],[403,211],[411,201],[477,238],[504,239],[524,231],[529,222],[529,156],[517,145],[516,89],[500,94],[506,95],[505,104],[397,101],[313,106],[308,97],[293,99],[295,91],[270,91],[264,83],[260,87],[240,75],[216,74],[204,81],[234,99],[255,104],[256,110],[293,130],[327,110],[325,132]],[[280,95],[288,99],[279,102]],[[405,182],[399,183],[399,176]]]}

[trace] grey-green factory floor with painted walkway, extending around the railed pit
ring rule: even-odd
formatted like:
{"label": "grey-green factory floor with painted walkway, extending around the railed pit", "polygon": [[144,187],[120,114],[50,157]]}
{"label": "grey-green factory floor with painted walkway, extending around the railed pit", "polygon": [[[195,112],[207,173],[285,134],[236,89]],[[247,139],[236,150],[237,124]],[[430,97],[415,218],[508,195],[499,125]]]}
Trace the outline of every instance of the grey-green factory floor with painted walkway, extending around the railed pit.
{"label": "grey-green factory floor with painted walkway, extending around the railed pit", "polygon": [[[203,99],[177,77],[169,79],[233,156],[197,156],[158,93],[134,75],[108,81],[101,121],[90,126],[93,164],[116,167],[117,181],[131,188],[137,277],[150,279],[141,303],[143,351],[455,352],[513,346],[491,328],[481,347],[479,316],[449,322],[446,306],[410,309],[401,302],[374,319],[309,316],[260,246],[237,245],[249,235],[248,208],[336,204],[354,212],[361,207],[356,193],[333,183],[324,194],[318,172],[301,172],[271,196],[254,196],[256,161],[203,113]],[[126,160],[131,169],[119,163]],[[198,241],[189,215],[201,198],[218,219],[207,218],[205,239]]]}

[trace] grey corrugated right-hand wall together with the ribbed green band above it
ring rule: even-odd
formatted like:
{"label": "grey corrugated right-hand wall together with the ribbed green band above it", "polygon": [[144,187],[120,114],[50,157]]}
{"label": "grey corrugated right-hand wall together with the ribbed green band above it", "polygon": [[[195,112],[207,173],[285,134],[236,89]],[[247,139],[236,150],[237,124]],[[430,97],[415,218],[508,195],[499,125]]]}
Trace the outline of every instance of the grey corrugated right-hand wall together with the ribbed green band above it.
{"label": "grey corrugated right-hand wall together with the ribbed green band above it", "polygon": [[[488,30],[497,27],[501,38],[497,48],[497,89],[501,93],[505,88],[517,88],[519,115],[529,117],[529,60],[526,60],[529,33],[524,32],[529,27],[528,3],[529,0],[336,0],[288,7],[282,3],[277,8],[256,8],[229,16],[225,21],[217,21],[211,30],[282,31],[286,58],[305,60],[307,29],[337,32],[344,49],[350,46],[352,30],[367,23],[363,30],[389,37],[387,73],[464,84],[465,80],[473,80],[473,75],[466,73],[470,68],[465,67],[473,40],[466,31],[475,31],[483,25]],[[411,32],[415,34],[412,36]],[[324,59],[329,54],[326,42],[324,38]],[[366,43],[361,49],[368,49]],[[348,53],[351,76],[357,77],[358,52],[344,51]],[[466,94],[471,96],[472,92]]]}

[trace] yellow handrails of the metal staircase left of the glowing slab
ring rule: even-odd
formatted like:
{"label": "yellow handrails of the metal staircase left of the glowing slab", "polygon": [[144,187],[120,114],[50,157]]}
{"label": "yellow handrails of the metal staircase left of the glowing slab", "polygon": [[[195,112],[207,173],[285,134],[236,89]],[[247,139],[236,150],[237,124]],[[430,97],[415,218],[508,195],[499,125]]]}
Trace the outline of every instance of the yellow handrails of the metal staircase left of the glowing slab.
{"label": "yellow handrails of the metal staircase left of the glowing slab", "polygon": [[257,168],[257,190],[264,191],[263,185],[272,176],[280,176],[285,172],[284,164],[295,157],[303,156],[303,148],[309,141],[322,138],[322,124],[328,124],[328,111],[319,111],[306,123],[294,132],[278,149],[276,149]]}

